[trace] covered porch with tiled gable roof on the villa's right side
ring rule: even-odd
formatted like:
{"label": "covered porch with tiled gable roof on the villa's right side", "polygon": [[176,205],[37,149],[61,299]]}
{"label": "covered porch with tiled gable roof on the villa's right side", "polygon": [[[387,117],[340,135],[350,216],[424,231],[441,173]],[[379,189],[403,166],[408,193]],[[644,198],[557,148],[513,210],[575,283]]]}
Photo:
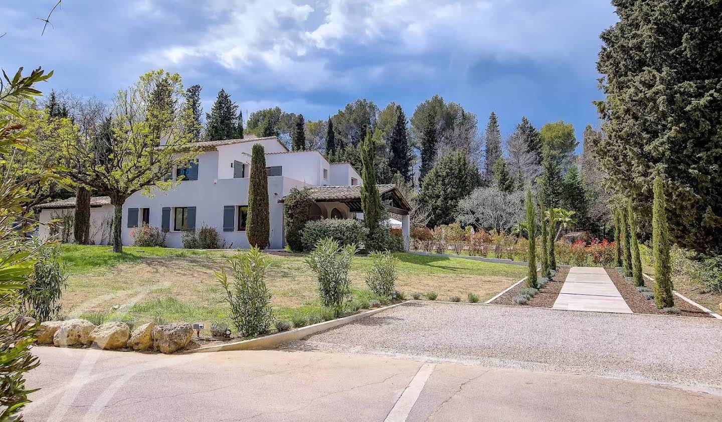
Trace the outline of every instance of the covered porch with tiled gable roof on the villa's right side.
{"label": "covered porch with tiled gable roof on the villa's right side", "polygon": [[[409,250],[411,240],[411,206],[401,195],[396,185],[377,185],[381,203],[386,211],[401,221],[401,234],[404,237],[404,249]],[[351,186],[315,186],[309,188],[310,197],[315,202],[311,207],[311,219],[352,219],[363,214],[361,208],[361,187]],[[283,203],[279,199],[279,203]]]}

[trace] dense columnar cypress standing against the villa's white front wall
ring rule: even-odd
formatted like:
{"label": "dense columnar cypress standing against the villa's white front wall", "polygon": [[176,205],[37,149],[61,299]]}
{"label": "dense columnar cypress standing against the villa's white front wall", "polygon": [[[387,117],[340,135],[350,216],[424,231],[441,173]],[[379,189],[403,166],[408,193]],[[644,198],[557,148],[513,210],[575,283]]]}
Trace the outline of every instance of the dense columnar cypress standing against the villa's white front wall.
{"label": "dense columnar cypress standing against the villa's white front wall", "polygon": [[266,176],[266,151],[261,144],[251,149],[251,176],[248,181],[248,222],[245,234],[251,246],[266,249],[271,235],[269,221],[269,184]]}

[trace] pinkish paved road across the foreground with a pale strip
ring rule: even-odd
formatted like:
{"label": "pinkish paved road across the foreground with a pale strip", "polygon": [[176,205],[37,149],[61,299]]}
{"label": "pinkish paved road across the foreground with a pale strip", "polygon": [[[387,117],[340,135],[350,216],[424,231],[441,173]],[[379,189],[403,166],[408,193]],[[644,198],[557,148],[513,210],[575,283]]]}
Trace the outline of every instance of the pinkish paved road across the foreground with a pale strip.
{"label": "pinkish paved road across the foreground with a pale strip", "polygon": [[283,350],[33,353],[28,386],[42,390],[27,421],[722,420],[719,395],[523,369]]}

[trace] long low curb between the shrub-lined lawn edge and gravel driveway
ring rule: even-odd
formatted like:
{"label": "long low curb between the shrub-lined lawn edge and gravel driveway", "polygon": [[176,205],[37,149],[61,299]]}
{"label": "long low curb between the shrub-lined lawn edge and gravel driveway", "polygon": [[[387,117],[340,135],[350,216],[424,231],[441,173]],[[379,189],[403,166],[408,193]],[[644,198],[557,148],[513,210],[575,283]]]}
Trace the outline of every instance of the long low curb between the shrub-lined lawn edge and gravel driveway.
{"label": "long low curb between the shrub-lined lawn edge and gravel driveway", "polygon": [[251,338],[250,340],[241,340],[233,343],[224,343],[214,346],[194,348],[193,350],[185,351],[181,354],[234,350],[263,350],[274,348],[282,343],[288,343],[289,341],[293,340],[300,340],[301,338],[307,337],[308,335],[316,334],[324,330],[329,330],[329,328],[338,327],[339,325],[348,324],[349,322],[355,322],[357,320],[361,320],[362,318],[370,317],[371,315],[378,314],[378,312],[386,311],[387,309],[397,307],[400,304],[404,304],[406,302],[409,301],[392,304],[388,307],[371,309],[370,311],[360,312],[358,314],[349,315],[347,317],[338,318],[336,320],[318,322],[318,324],[308,325],[301,328],[294,328],[293,330],[284,331],[283,333],[264,335],[264,337]]}

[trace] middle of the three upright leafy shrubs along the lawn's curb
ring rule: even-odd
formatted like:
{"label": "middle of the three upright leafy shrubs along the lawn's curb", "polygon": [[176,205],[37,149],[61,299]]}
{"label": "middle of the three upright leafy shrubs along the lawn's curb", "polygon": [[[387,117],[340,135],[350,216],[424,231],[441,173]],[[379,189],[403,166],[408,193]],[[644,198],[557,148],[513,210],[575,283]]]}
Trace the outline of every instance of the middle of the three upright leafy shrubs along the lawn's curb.
{"label": "middle of the three upright leafy shrubs along the lawn's curb", "polygon": [[349,268],[356,254],[355,244],[339,246],[334,239],[321,239],[305,262],[318,276],[318,294],[323,306],[334,307],[336,317],[343,311],[344,300],[349,294]]}

